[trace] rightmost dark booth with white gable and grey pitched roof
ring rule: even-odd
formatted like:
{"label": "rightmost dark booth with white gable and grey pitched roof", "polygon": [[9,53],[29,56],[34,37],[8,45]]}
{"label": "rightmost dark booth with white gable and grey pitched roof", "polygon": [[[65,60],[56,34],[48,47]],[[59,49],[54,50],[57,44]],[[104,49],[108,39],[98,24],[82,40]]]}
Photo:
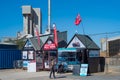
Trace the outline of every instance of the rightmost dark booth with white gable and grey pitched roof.
{"label": "rightmost dark booth with white gable and grey pitched roof", "polygon": [[[100,48],[88,35],[75,34],[62,53],[66,53],[67,50],[68,54],[69,49],[74,50],[73,54],[76,53],[74,57],[74,64],[79,61],[82,64],[88,64],[88,73],[98,72]],[[68,67],[71,67],[71,65]],[[74,67],[76,66],[73,66],[72,69],[74,69]],[[78,71],[78,69],[75,70]]]}

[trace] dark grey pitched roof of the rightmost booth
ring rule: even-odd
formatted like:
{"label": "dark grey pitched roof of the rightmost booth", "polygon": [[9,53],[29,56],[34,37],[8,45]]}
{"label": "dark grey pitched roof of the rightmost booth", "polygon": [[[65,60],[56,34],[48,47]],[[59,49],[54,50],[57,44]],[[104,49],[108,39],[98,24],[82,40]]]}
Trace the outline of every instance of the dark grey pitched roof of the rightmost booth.
{"label": "dark grey pitched roof of the rightmost booth", "polygon": [[[75,34],[73,38],[75,36],[85,45],[87,49],[100,49],[88,35]],[[70,40],[70,42],[73,40],[73,38]],[[70,44],[70,42],[68,43],[68,45]]]}

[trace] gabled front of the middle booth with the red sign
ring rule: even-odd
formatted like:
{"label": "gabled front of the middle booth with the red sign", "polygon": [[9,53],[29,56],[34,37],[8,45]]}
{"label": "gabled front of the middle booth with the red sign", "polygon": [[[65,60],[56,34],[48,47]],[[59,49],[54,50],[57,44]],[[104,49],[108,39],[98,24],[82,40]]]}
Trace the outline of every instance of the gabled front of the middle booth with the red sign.
{"label": "gabled front of the middle booth with the red sign", "polygon": [[43,69],[50,69],[50,62],[52,59],[55,59],[57,63],[57,47],[52,41],[52,39],[48,39],[48,41],[44,44],[43,47]]}

